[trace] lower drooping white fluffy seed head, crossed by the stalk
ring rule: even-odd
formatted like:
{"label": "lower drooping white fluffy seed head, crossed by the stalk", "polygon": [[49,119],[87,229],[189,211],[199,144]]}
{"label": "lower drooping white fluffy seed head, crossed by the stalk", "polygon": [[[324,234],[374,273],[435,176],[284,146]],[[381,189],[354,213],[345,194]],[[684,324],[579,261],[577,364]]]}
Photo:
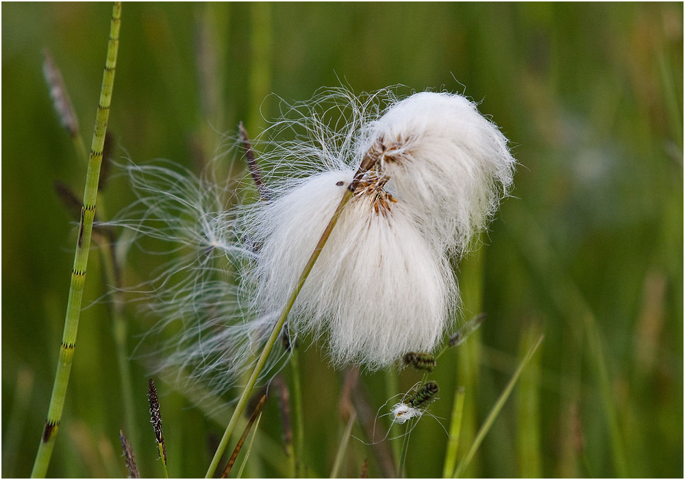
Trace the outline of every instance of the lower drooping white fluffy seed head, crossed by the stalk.
{"label": "lower drooping white fluffy seed head, crossed by the stalk", "polygon": [[[314,175],[253,205],[245,238],[259,247],[256,310],[282,309],[334,214],[352,170]],[[329,334],[334,364],[371,370],[432,351],[457,298],[445,255],[392,199],[373,190],[345,207],[290,314],[295,331]],[[386,210],[388,209],[388,210]]]}

